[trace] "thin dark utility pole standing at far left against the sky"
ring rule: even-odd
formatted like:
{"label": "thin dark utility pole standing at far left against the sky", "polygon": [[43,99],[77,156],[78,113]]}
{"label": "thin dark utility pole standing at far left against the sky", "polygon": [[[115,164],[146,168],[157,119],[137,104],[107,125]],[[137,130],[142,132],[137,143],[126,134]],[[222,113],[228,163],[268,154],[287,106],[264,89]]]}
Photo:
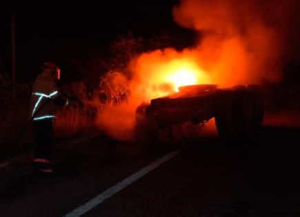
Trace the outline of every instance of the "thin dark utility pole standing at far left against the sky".
{"label": "thin dark utility pole standing at far left against the sky", "polygon": [[15,43],[15,15],[11,17],[11,43],[12,43],[12,97],[16,100],[16,43]]}

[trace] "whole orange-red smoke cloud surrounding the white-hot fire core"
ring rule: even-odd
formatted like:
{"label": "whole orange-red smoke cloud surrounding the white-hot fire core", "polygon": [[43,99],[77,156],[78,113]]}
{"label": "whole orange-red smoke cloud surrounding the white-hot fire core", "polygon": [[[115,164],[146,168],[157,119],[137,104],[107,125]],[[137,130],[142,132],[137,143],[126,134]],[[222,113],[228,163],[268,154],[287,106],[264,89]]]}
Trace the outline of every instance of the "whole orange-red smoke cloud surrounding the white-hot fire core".
{"label": "whole orange-red smoke cloud surrounding the white-hot fire core", "polygon": [[137,106],[172,92],[166,75],[174,61],[199,69],[198,83],[229,87],[281,81],[283,66],[299,45],[297,10],[299,1],[291,0],[181,0],[173,8],[174,20],[199,32],[198,43],[181,52],[155,50],[132,60],[130,101],[107,107],[100,125],[114,138],[132,140]]}

